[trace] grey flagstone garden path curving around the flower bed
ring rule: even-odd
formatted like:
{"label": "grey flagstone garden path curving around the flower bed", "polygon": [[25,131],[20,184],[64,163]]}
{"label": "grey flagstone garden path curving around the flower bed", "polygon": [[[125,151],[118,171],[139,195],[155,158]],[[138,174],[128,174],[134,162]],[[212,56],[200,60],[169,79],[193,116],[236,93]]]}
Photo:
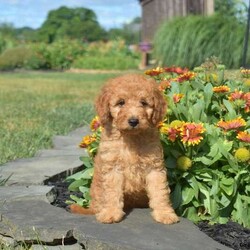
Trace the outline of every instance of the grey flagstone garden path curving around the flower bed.
{"label": "grey flagstone garden path curving around the flower bed", "polygon": [[56,193],[47,184],[56,175],[65,176],[81,167],[79,157],[86,152],[77,145],[87,133],[84,127],[56,136],[53,149],[0,166],[2,177],[11,175],[8,185],[0,187],[0,242],[35,250],[230,249],[184,218],[171,226],[156,223],[149,209],[134,209],[122,222],[105,225],[93,216],[70,214],[52,206]]}

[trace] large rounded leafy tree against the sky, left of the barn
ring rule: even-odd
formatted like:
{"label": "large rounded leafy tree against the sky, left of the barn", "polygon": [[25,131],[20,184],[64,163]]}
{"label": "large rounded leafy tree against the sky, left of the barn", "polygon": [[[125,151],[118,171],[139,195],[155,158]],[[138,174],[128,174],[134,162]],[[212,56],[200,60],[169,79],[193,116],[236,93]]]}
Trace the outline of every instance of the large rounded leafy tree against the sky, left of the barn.
{"label": "large rounded leafy tree against the sky, left of the barn", "polygon": [[49,12],[46,21],[39,29],[39,36],[41,40],[47,42],[61,38],[95,41],[102,39],[105,31],[92,10],[60,7]]}

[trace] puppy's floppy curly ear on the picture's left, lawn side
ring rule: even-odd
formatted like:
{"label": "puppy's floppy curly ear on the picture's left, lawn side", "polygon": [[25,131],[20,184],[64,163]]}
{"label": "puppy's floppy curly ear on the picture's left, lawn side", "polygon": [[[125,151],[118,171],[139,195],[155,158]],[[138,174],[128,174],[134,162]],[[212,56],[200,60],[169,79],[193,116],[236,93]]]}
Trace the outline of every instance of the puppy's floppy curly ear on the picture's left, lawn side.
{"label": "puppy's floppy curly ear on the picture's left, lawn side", "polygon": [[105,126],[110,123],[112,119],[109,110],[110,96],[110,91],[107,87],[104,87],[95,102],[95,109],[102,126]]}

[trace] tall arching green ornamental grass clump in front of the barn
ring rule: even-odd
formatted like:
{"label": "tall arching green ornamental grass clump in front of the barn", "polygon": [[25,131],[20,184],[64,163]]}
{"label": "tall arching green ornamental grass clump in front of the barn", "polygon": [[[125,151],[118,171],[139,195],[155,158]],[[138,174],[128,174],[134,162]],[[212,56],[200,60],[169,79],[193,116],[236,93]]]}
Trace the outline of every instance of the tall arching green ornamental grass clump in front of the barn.
{"label": "tall arching green ornamental grass clump in front of the barn", "polygon": [[239,68],[244,34],[245,25],[232,17],[180,17],[164,23],[157,30],[154,52],[162,65],[193,68],[206,58],[216,56],[228,68]]}

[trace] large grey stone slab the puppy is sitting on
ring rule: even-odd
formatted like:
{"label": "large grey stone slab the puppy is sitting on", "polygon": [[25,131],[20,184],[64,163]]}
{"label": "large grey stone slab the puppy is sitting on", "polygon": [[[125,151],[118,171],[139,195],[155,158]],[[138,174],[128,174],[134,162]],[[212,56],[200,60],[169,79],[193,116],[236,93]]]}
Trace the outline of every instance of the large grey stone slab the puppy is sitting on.
{"label": "large grey stone slab the puppy is sitting on", "polygon": [[[175,225],[156,223],[149,209],[134,209],[122,222],[100,224],[94,216],[74,215],[39,200],[10,201],[1,211],[0,233],[16,240],[55,241],[74,237],[85,249],[226,250],[186,219]],[[7,230],[6,230],[7,225]]]}

